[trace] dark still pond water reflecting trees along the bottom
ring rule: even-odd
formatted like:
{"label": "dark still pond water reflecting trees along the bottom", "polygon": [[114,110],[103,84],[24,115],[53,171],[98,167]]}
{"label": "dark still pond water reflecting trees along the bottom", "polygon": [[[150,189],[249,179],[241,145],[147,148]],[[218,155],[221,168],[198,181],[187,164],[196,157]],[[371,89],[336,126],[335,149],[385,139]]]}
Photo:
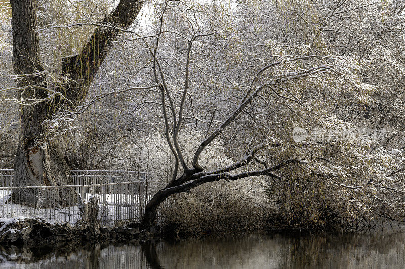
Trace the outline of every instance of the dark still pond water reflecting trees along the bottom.
{"label": "dark still pond water reflecting trees along the bottom", "polygon": [[405,232],[267,232],[58,249],[1,248],[0,268],[403,268]]}

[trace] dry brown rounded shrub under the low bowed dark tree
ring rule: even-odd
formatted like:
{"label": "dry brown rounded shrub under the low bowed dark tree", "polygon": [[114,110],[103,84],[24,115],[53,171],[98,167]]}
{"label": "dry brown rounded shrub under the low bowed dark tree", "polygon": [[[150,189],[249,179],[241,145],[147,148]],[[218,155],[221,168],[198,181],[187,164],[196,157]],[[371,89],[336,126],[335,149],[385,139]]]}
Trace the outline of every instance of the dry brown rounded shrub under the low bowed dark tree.
{"label": "dry brown rounded shrub under the low bowed dark tree", "polygon": [[263,228],[271,212],[264,192],[252,184],[214,183],[172,197],[162,209],[166,227],[177,233],[246,232]]}

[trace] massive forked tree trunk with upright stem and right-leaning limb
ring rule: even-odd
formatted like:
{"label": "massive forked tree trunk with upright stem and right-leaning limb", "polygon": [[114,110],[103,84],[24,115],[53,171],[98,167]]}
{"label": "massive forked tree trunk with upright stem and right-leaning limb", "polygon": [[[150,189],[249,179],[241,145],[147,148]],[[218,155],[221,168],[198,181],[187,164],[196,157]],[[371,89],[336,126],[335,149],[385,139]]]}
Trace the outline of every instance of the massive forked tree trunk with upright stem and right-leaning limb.
{"label": "massive forked tree trunk with upright stem and right-leaning limb", "polygon": [[[61,107],[73,109],[86,98],[101,63],[113,41],[128,28],[138,15],[142,1],[121,0],[117,7],[104,18],[105,26],[96,28],[89,42],[79,55],[66,57],[62,63],[62,76],[67,76],[67,86],[58,88],[64,95],[50,101],[46,75],[39,57],[39,37],[36,32],[36,0],[10,0],[13,29],[13,66],[17,75],[21,105],[20,141],[14,167],[14,186],[71,185],[71,174],[64,155],[66,136],[52,137],[46,134],[45,121]],[[12,195],[15,202],[42,206],[68,206],[75,202],[73,189],[36,188],[19,189]]]}

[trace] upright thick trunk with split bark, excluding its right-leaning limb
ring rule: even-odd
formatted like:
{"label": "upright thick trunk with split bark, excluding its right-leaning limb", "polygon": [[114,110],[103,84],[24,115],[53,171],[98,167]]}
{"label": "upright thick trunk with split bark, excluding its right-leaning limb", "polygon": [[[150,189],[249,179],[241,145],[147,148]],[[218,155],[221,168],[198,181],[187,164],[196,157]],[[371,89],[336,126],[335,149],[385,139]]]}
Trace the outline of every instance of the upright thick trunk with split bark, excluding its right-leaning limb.
{"label": "upright thick trunk with split bark, excluding its right-leaning limb", "polygon": [[[37,100],[37,104],[21,106],[20,141],[14,167],[15,186],[57,186],[71,183],[70,170],[64,156],[65,139],[58,138],[58,144],[46,140],[44,120],[50,119],[52,107],[41,102],[47,97],[46,76],[39,57],[39,38],[35,0],[11,0],[13,27],[13,65],[18,75],[18,95]],[[15,201],[36,206],[70,205],[76,195],[66,189],[18,190],[13,193]],[[45,201],[44,201],[45,200]]]}

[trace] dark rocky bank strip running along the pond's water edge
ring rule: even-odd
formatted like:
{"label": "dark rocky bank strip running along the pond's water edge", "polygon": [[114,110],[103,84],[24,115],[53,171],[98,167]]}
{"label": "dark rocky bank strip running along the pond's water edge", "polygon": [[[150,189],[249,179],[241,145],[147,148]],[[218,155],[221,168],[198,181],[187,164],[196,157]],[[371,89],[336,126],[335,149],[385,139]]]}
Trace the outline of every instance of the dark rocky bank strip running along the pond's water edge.
{"label": "dark rocky bank strip running along the pond's water edge", "polygon": [[[119,227],[100,227],[89,223],[78,223],[70,225],[69,223],[57,224],[50,223],[41,218],[18,216],[9,219],[0,219],[0,244],[2,246],[17,247],[51,247],[59,248],[71,243],[85,246],[88,243],[95,244],[113,244],[118,242],[130,242],[134,240],[177,240],[183,238],[198,238],[206,235],[232,236],[254,232],[287,232],[287,233],[351,233],[361,232],[361,230],[314,230],[300,229],[297,227],[272,227],[256,231],[228,231],[228,232],[205,232],[200,234],[186,234],[174,232],[173,229],[160,228],[154,226],[148,230],[141,229],[140,223],[127,223]],[[379,229],[364,229],[367,231],[385,230],[385,229],[403,230],[399,224],[390,227],[380,226]]]}

